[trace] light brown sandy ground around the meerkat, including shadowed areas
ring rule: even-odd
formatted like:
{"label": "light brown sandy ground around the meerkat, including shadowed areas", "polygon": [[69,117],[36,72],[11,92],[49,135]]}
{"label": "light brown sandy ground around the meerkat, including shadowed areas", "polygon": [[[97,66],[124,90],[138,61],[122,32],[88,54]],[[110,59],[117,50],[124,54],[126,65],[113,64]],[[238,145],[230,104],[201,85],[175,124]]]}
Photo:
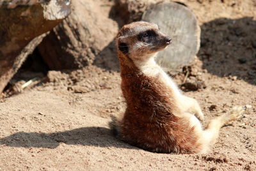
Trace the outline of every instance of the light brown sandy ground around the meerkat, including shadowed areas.
{"label": "light brown sandy ground around the meerkat, including shadowed areas", "polygon": [[109,116],[125,102],[116,54],[107,50],[83,70],[15,76],[17,85],[38,79],[0,103],[0,170],[256,170],[256,1],[180,2],[198,18],[201,48],[173,79],[198,100],[205,126],[248,107],[211,152],[157,154],[116,139]]}

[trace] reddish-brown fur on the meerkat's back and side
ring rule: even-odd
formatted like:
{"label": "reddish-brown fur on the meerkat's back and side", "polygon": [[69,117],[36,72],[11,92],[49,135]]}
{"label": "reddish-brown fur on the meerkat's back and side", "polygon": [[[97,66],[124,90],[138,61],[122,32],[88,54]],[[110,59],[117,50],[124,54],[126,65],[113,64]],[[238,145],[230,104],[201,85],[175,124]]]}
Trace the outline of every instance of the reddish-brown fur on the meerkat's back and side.
{"label": "reddish-brown fur on the meerkat's back and side", "polygon": [[[179,108],[172,89],[127,66],[120,56],[122,91],[127,109],[120,125],[120,137],[129,144],[154,152],[198,152],[200,144],[188,121],[173,115]],[[132,67],[131,67],[132,66]]]}

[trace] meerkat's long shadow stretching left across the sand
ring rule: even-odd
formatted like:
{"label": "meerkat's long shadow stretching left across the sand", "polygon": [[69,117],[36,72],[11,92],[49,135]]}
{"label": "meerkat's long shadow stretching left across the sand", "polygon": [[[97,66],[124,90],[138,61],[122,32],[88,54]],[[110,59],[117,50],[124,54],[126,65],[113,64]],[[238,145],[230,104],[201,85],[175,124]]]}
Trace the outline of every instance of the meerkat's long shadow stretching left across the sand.
{"label": "meerkat's long shadow stretching left across the sand", "polygon": [[60,143],[137,149],[116,139],[108,128],[102,127],[77,128],[56,133],[26,133],[20,131],[0,139],[1,145],[10,147],[43,147],[54,149]]}

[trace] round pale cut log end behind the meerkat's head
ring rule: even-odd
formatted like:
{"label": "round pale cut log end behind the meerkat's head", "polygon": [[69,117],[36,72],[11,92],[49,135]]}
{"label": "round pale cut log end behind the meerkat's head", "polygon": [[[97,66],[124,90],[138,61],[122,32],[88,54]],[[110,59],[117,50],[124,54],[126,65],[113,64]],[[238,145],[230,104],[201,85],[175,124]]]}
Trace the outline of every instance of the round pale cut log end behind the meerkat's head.
{"label": "round pale cut log end behind the meerkat's head", "polygon": [[172,38],[172,45],[156,59],[165,71],[177,73],[193,61],[200,48],[200,27],[188,7],[173,2],[154,4],[143,13],[142,20],[156,23]]}

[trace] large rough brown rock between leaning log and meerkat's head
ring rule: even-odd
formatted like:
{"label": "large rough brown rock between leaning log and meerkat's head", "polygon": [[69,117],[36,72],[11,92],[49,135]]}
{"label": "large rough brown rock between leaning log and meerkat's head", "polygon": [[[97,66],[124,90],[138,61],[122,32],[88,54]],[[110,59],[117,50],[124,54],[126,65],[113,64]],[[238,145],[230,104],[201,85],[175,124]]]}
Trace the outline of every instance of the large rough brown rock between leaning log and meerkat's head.
{"label": "large rough brown rock between leaning log and meerkat's head", "polygon": [[51,70],[90,65],[115,39],[118,24],[109,19],[109,6],[100,0],[72,1],[72,13],[38,46]]}

